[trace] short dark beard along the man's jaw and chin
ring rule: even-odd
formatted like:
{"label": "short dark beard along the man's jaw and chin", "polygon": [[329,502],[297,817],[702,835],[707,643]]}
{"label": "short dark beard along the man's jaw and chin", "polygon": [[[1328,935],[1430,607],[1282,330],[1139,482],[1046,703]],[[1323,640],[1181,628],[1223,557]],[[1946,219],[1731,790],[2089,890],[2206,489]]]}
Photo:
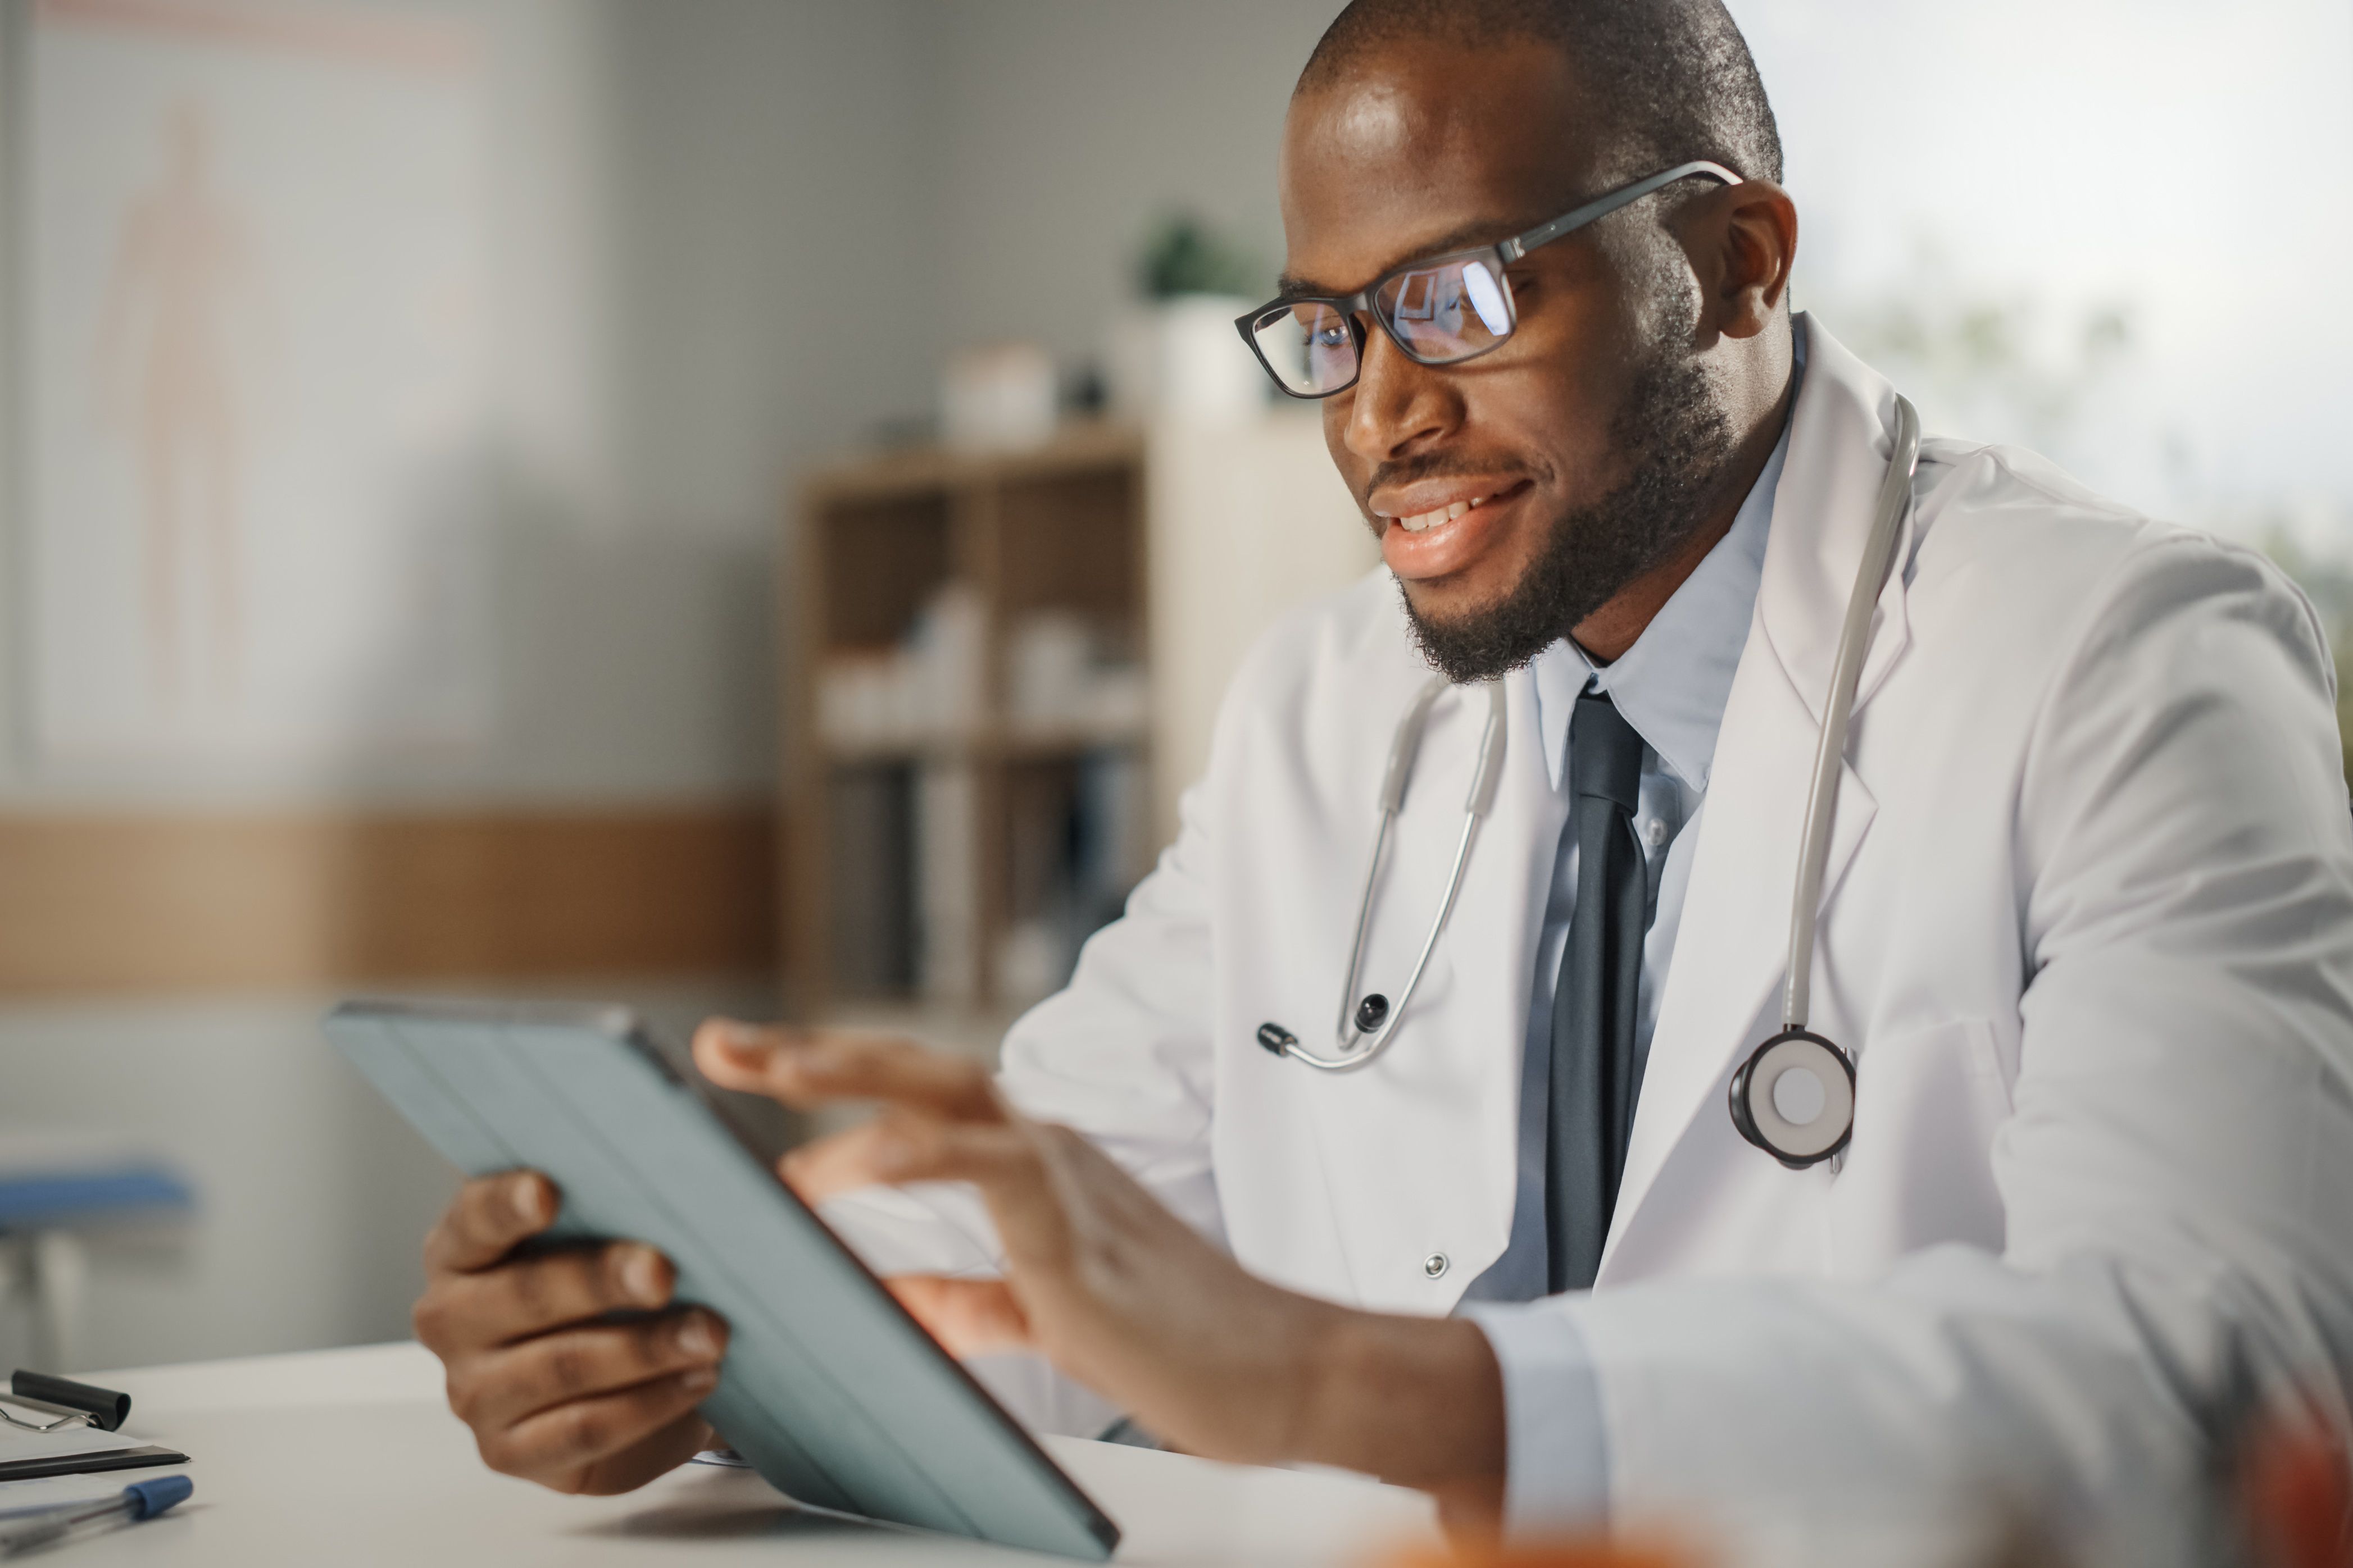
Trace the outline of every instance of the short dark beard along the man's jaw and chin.
{"label": "short dark beard along the man's jaw and chin", "polygon": [[1600,501],[1553,517],[1537,559],[1494,604],[1438,621],[1405,597],[1414,644],[1454,684],[1497,679],[1553,646],[1701,524],[1739,449],[1699,364],[1661,346],[1609,421],[1631,473]]}

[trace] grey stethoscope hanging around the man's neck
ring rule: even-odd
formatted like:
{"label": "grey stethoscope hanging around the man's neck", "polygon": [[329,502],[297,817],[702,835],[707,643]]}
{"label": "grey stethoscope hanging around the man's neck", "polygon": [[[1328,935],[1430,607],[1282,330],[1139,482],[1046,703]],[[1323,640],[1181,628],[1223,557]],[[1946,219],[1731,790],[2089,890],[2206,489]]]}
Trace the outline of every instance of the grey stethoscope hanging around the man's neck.
{"label": "grey stethoscope hanging around the man's neck", "polygon": [[[1798,839],[1798,886],[1791,893],[1788,914],[1788,983],[1781,990],[1781,1032],[1769,1037],[1739,1072],[1732,1074],[1732,1126],[1741,1138],[1779,1159],[1791,1171],[1817,1166],[1840,1154],[1854,1135],[1854,1058],[1835,1041],[1805,1027],[1812,1001],[1814,973],[1814,924],[1821,905],[1821,875],[1831,860],[1831,813],[1838,806],[1838,776],[1847,752],[1847,719],[1854,717],[1854,689],[1864,675],[1864,654],[1871,642],[1871,611],[1878,607],[1887,569],[1894,564],[1897,536],[1904,512],[1911,508],[1913,475],[1920,468],[1920,414],[1908,400],[1897,397],[1894,456],[1880,480],[1880,503],[1864,541],[1864,559],[1854,571],[1854,588],[1847,592],[1847,618],[1838,628],[1838,654],[1831,661],[1831,691],[1821,712],[1821,741],[1814,748],[1814,783],[1805,797],[1805,837]],[[1405,783],[1421,752],[1421,731],[1431,717],[1431,705],[1447,691],[1447,682],[1433,679],[1414,693],[1398,733],[1388,743],[1388,766],[1381,771],[1381,823],[1372,837],[1372,860],[1365,867],[1365,891],[1355,900],[1355,936],[1348,940],[1348,973],[1339,994],[1339,1056],[1308,1051],[1297,1034],[1280,1023],[1259,1025],[1259,1044],[1275,1056],[1306,1063],[1320,1072],[1355,1072],[1369,1067],[1388,1051],[1405,1023],[1405,1009],[1421,985],[1421,973],[1438,950],[1438,938],[1454,914],[1454,900],[1464,886],[1464,870],[1471,865],[1471,844],[1480,823],[1494,806],[1494,790],[1504,776],[1504,686],[1487,682],[1487,726],[1480,733],[1478,771],[1471,773],[1471,795],[1464,802],[1464,830],[1454,842],[1454,865],[1447,872],[1447,891],[1438,903],[1431,933],[1421,940],[1414,969],[1405,978],[1405,990],[1395,1001],[1381,992],[1358,994],[1365,971],[1365,936],[1372,931],[1374,886],[1381,879],[1381,860],[1388,853],[1391,827],[1405,806]]]}

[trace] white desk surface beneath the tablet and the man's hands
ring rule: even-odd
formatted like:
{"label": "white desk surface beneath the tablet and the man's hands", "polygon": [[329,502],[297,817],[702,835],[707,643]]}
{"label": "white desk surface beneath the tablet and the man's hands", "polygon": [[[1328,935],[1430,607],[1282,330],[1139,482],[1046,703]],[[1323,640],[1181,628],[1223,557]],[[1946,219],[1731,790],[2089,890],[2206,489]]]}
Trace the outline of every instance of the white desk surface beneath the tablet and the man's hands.
{"label": "white desk surface beneath the tablet and the man's hands", "polygon": [[[494,1476],[442,1408],[416,1345],[209,1361],[92,1382],[132,1394],[129,1432],[195,1462],[172,1514],[56,1552],[61,1568],[174,1563],[1012,1563],[1002,1547],[798,1514],[751,1472],[687,1465],[624,1497],[560,1497]],[[1431,1540],[1419,1493],[1358,1476],[1212,1465],[1047,1439],[1111,1514],[1122,1563],[1367,1563]],[[139,1472],[162,1474],[162,1472]],[[21,1483],[96,1495],[108,1476]],[[33,1493],[31,1488],[42,1488]],[[0,1488],[0,1505],[16,1497]],[[1033,1556],[1052,1563],[1061,1559]]]}

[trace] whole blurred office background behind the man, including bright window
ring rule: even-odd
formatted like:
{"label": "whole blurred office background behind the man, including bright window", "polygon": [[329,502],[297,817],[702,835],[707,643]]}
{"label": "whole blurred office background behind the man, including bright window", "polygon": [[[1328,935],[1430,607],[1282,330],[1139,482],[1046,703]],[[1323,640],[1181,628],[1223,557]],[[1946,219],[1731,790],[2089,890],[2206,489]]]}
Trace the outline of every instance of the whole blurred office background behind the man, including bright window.
{"label": "whole blurred office background behind the man, including bright window", "polygon": [[[1334,9],[0,0],[0,1359],[407,1331],[339,994],[1059,985],[1374,562],[1228,327]],[[1798,303],[2341,639],[2344,0],[1732,9]]]}

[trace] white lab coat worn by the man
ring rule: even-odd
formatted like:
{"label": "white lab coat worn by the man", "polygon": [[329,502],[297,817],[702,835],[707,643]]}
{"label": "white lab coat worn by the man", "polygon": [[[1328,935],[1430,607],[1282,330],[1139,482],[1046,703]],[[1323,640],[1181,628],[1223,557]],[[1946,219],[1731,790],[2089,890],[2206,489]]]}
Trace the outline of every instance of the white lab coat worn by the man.
{"label": "white lab coat worn by the man", "polygon": [[[2021,451],[1925,444],[1824,877],[1812,1023],[1857,1053],[1854,1143],[1793,1173],[1725,1112],[1779,1018],[1892,397],[1812,327],[1609,1246],[1591,1298],[1539,1309],[1591,1349],[1621,1519],[1852,1519],[1927,1488],[2099,1505],[2181,1488],[2245,1387],[2346,1422],[2353,830],[2322,632],[2254,552]],[[1391,1053],[1332,1077],[1254,1041],[1280,1020],[1332,1048],[1374,792],[1424,679],[1386,574],[1282,621],[1179,839],[1007,1037],[1005,1086],[1252,1272],[1445,1314],[1511,1225],[1565,813],[1525,672]],[[1482,708],[1433,717],[1367,990],[1435,910]],[[840,1218],[885,1265],[986,1267],[953,1192]],[[1541,1523],[1544,1476],[1515,1472],[1513,1507]]]}

